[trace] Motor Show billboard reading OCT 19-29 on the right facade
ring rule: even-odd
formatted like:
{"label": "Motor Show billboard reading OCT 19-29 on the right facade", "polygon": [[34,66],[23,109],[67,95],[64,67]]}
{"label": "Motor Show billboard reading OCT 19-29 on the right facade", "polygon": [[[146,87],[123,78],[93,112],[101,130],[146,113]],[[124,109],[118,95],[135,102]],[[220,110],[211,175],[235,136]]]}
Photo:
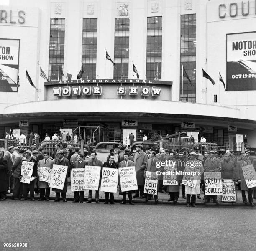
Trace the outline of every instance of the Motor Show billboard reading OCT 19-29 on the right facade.
{"label": "Motor Show billboard reading OCT 19-29 on the right facade", "polygon": [[227,91],[256,90],[256,31],[227,34]]}

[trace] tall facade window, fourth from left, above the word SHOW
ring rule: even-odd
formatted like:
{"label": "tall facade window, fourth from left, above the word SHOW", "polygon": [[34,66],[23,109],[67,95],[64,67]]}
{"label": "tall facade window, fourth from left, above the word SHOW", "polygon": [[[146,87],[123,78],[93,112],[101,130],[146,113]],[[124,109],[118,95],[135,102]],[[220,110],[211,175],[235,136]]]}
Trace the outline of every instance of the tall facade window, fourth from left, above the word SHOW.
{"label": "tall facade window, fourth from left, above the word SHOW", "polygon": [[146,79],[162,78],[162,17],[148,18]]}

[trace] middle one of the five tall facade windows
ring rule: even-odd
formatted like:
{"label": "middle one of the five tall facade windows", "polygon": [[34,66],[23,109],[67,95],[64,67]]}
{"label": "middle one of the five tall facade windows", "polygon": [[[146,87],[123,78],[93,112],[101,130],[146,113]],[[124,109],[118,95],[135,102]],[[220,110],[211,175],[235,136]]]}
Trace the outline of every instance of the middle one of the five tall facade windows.
{"label": "middle one of the five tall facade windows", "polygon": [[115,18],[114,79],[128,79],[130,18]]}

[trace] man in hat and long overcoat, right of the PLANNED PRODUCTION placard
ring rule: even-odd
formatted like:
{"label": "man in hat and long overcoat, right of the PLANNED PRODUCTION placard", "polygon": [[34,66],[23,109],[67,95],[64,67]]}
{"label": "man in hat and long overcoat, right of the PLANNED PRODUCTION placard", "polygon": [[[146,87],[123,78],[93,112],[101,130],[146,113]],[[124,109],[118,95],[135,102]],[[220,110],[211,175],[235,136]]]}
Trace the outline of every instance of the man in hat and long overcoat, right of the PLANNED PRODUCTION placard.
{"label": "man in hat and long overcoat, right of the PLANNED PRODUCTION placard", "polygon": [[133,198],[140,197],[141,199],[144,197],[144,185],[145,185],[145,178],[144,178],[144,171],[148,161],[148,155],[146,152],[143,152],[142,145],[136,145],[136,154],[134,155],[134,165],[137,177],[137,184],[138,190],[136,190],[135,195]]}

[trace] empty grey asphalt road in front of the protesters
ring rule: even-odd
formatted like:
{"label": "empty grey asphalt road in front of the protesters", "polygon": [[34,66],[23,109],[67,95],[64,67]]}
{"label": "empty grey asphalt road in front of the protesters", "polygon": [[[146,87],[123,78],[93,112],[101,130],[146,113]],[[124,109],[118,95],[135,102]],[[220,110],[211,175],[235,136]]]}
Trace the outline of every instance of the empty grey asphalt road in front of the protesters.
{"label": "empty grey asphalt road in front of the protesters", "polygon": [[[255,250],[250,207],[0,202],[0,250]],[[28,242],[29,248],[3,248]],[[253,248],[254,247],[254,248]]]}

